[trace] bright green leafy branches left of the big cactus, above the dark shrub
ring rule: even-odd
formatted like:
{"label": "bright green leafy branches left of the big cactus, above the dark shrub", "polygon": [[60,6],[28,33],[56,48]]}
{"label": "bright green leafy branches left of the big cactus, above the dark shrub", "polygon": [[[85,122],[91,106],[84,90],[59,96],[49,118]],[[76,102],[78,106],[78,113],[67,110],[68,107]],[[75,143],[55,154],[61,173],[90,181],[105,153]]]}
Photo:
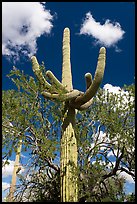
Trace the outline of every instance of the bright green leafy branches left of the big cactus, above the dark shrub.
{"label": "bright green leafy branches left of the big cactus, above the dark shrub", "polygon": [[19,139],[23,140],[22,151],[39,149],[42,159],[45,152],[54,158],[59,143],[59,106],[57,108],[54,102],[43,100],[33,77],[27,77],[15,68],[8,76],[19,88],[18,91],[2,92],[2,134],[3,148],[6,149],[3,159],[8,159],[16,151]]}

